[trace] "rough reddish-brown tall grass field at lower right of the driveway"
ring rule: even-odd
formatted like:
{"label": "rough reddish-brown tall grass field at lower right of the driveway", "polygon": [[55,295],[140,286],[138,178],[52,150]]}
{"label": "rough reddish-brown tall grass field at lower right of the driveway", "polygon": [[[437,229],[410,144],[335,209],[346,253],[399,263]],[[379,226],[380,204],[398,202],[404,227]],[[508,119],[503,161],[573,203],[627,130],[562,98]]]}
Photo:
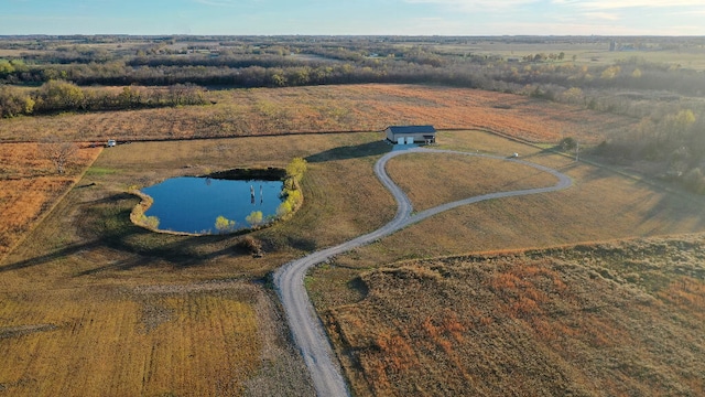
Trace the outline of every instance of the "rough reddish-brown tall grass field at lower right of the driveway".
{"label": "rough reddish-brown tall grass field at lower right of the driveway", "polygon": [[701,236],[404,262],[354,278],[365,298],[324,316],[359,396],[702,395],[704,249]]}

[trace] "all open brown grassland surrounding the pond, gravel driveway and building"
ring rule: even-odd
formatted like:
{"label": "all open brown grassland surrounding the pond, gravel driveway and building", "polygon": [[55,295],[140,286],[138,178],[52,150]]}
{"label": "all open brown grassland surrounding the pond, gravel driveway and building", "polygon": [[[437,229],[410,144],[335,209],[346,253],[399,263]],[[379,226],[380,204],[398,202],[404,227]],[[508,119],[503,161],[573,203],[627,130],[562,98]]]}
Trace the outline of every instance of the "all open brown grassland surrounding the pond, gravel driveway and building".
{"label": "all open brown grassland surrounding the pond, gravel driveway and building", "polygon": [[[598,143],[636,120],[435,86],[210,94],[214,105],[0,120],[0,150],[10,153],[0,184],[14,197],[1,203],[17,210],[3,212],[2,224],[14,214],[21,226],[9,244],[0,242],[21,242],[0,261],[0,352],[12,363],[0,369],[0,394],[313,394],[269,275],[392,219],[393,198],[373,172],[391,147],[373,131],[421,122],[448,128],[440,149],[518,152],[574,186],[456,207],[306,276],[354,393],[703,391],[703,371],[688,353],[702,351],[702,197],[546,149],[566,135]],[[313,133],[300,133],[306,131]],[[57,179],[51,164],[33,149],[8,151],[35,143],[8,141],[54,133],[132,143],[99,157],[85,149],[93,157],[76,161],[69,180],[44,196],[40,182]],[[156,235],[129,222],[138,203],[126,193],[132,187],[283,167],[294,157],[308,161],[304,206],[290,222],[252,234],[263,258],[240,248],[242,236]],[[438,153],[394,158],[388,172],[417,211],[554,182],[514,165]],[[675,234],[694,235],[653,238]],[[649,239],[589,243],[634,236]],[[498,254],[507,249],[520,251]],[[467,254],[478,251],[488,253]]]}

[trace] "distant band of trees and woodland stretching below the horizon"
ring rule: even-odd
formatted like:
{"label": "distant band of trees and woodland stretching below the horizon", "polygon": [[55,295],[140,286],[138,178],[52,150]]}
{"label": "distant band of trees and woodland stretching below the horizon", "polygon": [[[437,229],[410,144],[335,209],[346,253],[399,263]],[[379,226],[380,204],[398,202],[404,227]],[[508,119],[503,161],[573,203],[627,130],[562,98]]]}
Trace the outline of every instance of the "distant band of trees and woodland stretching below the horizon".
{"label": "distant band of trees and woodland stretching below the horizon", "polygon": [[[513,57],[468,50],[488,42],[536,51]],[[633,130],[596,150],[615,160],[660,161],[664,178],[705,192],[705,72],[630,51],[609,65],[541,51],[556,42],[566,49],[630,42],[623,50],[705,56],[705,37],[4,36],[0,54],[13,55],[0,56],[0,117],[204,105],[208,89],[224,88],[470,87],[634,117],[641,121]],[[122,88],[97,88],[116,86]]]}

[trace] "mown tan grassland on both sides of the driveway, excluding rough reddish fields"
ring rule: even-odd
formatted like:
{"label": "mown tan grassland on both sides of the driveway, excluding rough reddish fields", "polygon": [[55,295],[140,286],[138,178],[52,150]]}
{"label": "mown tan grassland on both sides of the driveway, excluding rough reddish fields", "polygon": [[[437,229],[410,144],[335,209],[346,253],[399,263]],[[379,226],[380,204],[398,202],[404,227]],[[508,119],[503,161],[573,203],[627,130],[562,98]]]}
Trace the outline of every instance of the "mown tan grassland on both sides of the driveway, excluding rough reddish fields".
{"label": "mown tan grassland on both sides of the driveway, excluding rough reddish fields", "polygon": [[[393,216],[392,198],[372,172],[377,159],[391,149],[381,138],[379,132],[313,133],[105,149],[0,267],[0,348],[8,362],[17,363],[3,366],[0,384],[19,395],[52,387],[66,394],[256,394],[256,387],[311,394],[273,297],[252,280],[306,251],[376,229]],[[346,283],[357,277],[356,268],[400,258],[703,230],[703,206],[694,197],[488,132],[447,131],[438,139],[473,152],[519,152],[527,161],[567,172],[576,185],[545,196],[457,208],[340,256],[336,264],[347,269],[336,268],[325,277],[317,272],[308,280],[316,302],[322,304],[325,297],[332,309],[335,302],[355,302],[360,291]],[[131,186],[232,167],[283,167],[293,157],[308,161],[305,203],[291,221],[252,234],[264,244],[263,258],[238,248],[237,235],[162,235],[129,221],[138,203],[126,193]],[[419,165],[404,173],[410,162]],[[420,207],[464,192],[554,183],[497,160],[401,157],[390,169]],[[458,170],[474,178],[447,176],[453,186],[434,182]],[[427,196],[425,185],[433,187]],[[623,218],[616,216],[622,213]],[[73,353],[62,354],[67,351]],[[33,354],[29,363],[26,352]],[[228,366],[220,366],[223,362]],[[204,375],[205,368],[214,369]]]}

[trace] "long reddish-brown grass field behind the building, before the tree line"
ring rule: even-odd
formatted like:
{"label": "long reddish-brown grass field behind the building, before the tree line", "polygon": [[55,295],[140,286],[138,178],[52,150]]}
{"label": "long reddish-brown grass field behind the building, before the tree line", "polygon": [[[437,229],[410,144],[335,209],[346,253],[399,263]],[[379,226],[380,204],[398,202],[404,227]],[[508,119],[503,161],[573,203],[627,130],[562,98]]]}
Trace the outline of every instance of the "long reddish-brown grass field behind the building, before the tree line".
{"label": "long reddish-brown grass field behind the building, before the tree line", "polygon": [[377,131],[389,125],[490,128],[534,141],[598,142],[633,122],[522,96],[412,85],[316,86],[209,93],[217,105],[0,120],[1,140],[177,139]]}

